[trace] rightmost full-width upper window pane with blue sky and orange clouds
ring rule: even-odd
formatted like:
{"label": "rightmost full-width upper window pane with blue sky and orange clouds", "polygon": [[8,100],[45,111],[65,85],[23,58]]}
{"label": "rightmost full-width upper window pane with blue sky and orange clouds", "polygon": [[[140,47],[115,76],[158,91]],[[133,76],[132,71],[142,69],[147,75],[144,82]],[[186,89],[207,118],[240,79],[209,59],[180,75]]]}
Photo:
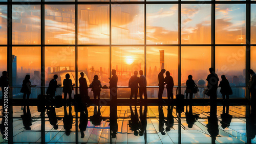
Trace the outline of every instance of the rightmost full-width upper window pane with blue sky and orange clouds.
{"label": "rightmost full-width upper window pane with blue sky and orange clouds", "polygon": [[216,44],[245,43],[245,4],[216,5]]}

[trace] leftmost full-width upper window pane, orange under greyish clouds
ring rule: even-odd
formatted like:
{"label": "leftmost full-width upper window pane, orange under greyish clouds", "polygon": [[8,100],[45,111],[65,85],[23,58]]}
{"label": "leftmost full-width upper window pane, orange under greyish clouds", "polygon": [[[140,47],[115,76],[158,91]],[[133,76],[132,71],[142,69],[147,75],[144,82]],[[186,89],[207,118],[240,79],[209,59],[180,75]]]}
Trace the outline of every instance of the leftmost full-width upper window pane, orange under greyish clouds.
{"label": "leftmost full-width upper window pane, orange under greyish clouds", "polygon": [[12,43],[40,44],[40,5],[12,6]]}

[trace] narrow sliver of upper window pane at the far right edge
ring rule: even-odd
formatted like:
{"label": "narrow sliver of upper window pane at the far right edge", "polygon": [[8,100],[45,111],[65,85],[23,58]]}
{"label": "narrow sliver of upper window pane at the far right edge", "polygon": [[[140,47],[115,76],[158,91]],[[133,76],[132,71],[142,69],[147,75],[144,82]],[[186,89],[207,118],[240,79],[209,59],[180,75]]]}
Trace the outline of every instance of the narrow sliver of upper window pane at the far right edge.
{"label": "narrow sliver of upper window pane at the far right edge", "polygon": [[251,43],[256,44],[256,4],[251,4]]}

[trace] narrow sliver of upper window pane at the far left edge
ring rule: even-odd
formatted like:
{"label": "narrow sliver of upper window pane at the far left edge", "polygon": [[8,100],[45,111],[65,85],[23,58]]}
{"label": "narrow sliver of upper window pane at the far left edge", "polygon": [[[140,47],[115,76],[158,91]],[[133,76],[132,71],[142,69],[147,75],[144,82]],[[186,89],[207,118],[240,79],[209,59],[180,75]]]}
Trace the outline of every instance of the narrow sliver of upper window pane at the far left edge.
{"label": "narrow sliver of upper window pane at the far left edge", "polygon": [[0,36],[0,44],[7,44],[7,5],[0,5]]}

